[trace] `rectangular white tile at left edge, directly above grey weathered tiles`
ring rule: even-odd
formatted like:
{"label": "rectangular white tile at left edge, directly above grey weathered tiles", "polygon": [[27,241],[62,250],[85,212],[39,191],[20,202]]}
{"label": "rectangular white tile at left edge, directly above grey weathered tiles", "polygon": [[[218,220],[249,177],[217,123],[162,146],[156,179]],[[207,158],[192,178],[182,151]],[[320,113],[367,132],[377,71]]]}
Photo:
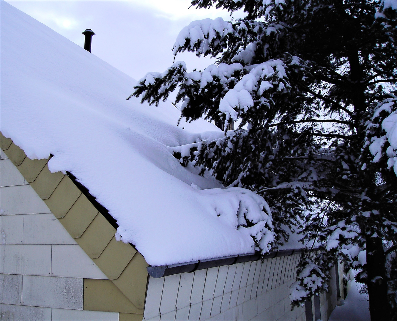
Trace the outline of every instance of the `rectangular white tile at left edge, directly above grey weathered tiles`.
{"label": "rectangular white tile at left edge, directly above grey weathered tiles", "polygon": [[0,253],[0,273],[51,275],[50,245],[7,244]]}

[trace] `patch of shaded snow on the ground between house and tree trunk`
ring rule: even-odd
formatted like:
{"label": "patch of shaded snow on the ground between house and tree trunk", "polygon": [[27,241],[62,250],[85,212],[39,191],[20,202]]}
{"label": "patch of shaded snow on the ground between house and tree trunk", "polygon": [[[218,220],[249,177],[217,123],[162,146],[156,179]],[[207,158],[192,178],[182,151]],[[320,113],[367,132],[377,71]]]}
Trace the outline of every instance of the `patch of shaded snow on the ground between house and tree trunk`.
{"label": "patch of shaded snow on the ground between house and tree trunk", "polygon": [[335,307],[328,321],[370,321],[368,294],[360,294],[362,284],[354,280],[354,275],[347,283],[347,296],[342,305]]}

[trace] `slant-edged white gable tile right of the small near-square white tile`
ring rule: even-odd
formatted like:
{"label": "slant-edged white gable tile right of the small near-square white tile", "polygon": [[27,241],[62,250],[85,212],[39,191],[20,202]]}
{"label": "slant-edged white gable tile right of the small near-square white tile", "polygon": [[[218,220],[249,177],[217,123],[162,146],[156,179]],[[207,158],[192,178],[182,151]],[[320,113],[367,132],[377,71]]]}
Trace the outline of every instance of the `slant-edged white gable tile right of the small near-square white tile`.
{"label": "slant-edged white gable tile right of the small near-square white tile", "polygon": [[23,244],[77,244],[54,214],[25,215]]}

